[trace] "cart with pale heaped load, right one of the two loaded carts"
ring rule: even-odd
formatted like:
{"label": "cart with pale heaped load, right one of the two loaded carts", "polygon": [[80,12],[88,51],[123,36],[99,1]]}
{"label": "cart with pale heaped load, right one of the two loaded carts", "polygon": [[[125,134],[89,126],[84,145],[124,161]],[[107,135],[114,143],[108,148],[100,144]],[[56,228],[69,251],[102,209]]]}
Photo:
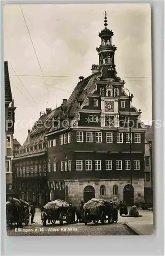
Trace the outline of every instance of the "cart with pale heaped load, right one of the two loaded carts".
{"label": "cart with pale heaped load, right one of the two loaded carts", "polygon": [[91,199],[84,205],[84,223],[89,222],[104,224],[113,222],[113,206],[109,201],[103,199]]}

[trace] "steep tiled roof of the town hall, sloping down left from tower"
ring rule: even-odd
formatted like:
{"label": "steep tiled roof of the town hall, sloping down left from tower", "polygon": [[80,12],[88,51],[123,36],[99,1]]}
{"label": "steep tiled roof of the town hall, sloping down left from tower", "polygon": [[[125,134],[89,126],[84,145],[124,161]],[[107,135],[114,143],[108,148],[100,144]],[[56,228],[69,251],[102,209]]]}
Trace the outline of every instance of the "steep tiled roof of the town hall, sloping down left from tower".
{"label": "steep tiled roof of the town hall, sloping down left from tower", "polygon": [[[57,109],[52,110],[49,114],[42,115],[36,123],[37,125],[34,125],[31,130],[31,140],[28,141],[28,137],[24,141],[23,145],[19,148],[19,150],[23,150],[26,147],[37,145],[44,143],[44,137],[48,132],[52,132],[54,130],[57,130],[58,128],[54,125],[51,125],[53,122],[53,119],[59,118],[63,116],[64,118],[67,117],[76,117],[77,114],[77,106],[78,102],[83,102],[86,94],[90,94],[94,90],[95,82],[94,79],[98,73],[94,73],[91,76],[88,76],[87,78],[81,80],[77,83],[77,86],[75,87],[74,91],[72,92],[71,96],[69,97],[65,109],[63,112],[62,106],[59,106]],[[46,125],[45,125],[46,124]],[[27,131],[28,133],[28,131]],[[16,158],[23,157],[23,156],[29,156],[34,154],[39,154],[41,152],[45,152],[46,148],[31,151],[28,153],[21,153],[17,154]]]}

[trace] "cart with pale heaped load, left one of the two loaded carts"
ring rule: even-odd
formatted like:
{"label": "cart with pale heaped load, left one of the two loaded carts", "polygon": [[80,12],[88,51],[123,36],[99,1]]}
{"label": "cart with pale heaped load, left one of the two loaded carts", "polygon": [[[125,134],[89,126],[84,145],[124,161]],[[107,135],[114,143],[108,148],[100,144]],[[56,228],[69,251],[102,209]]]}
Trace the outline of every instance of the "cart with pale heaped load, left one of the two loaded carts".
{"label": "cart with pale heaped load, left one of the two loaded carts", "polygon": [[70,224],[73,221],[72,207],[61,199],[49,202],[41,208],[41,220],[44,226],[46,226],[46,221],[52,224],[60,221],[60,225],[66,221],[67,224]]}

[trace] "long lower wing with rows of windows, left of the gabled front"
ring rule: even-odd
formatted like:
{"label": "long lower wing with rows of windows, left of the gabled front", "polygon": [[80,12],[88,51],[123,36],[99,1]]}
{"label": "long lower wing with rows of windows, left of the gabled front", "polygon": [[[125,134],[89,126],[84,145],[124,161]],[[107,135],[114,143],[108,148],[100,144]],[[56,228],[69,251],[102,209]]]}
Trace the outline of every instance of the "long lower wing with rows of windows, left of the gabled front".
{"label": "long lower wing with rows of windows, left of the gabled front", "polygon": [[49,200],[47,148],[44,139],[48,128],[44,123],[49,120],[50,113],[51,109],[40,112],[39,120],[32,130],[28,130],[28,137],[14,157],[14,188],[19,198],[35,202],[36,205],[43,205]]}

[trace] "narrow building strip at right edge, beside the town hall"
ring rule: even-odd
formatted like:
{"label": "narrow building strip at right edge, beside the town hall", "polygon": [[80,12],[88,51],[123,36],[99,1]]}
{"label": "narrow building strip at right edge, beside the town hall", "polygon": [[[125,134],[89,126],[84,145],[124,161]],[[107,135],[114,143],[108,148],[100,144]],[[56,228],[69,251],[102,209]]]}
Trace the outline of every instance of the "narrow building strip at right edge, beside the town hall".
{"label": "narrow building strip at right edge, beside the town hall", "polygon": [[153,204],[153,172],[152,172],[152,126],[146,126],[145,134],[145,182],[144,196],[147,204]]}

